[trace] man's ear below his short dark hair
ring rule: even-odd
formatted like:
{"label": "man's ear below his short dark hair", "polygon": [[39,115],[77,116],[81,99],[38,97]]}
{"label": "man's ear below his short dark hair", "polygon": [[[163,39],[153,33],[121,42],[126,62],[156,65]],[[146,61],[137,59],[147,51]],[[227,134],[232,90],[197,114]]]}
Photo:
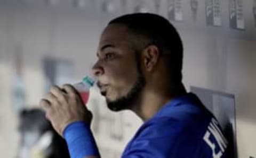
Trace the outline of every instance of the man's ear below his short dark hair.
{"label": "man's ear below his short dark hair", "polygon": [[146,71],[151,72],[156,66],[159,59],[159,49],[155,45],[150,45],[145,48],[142,52],[143,55],[143,65]]}

